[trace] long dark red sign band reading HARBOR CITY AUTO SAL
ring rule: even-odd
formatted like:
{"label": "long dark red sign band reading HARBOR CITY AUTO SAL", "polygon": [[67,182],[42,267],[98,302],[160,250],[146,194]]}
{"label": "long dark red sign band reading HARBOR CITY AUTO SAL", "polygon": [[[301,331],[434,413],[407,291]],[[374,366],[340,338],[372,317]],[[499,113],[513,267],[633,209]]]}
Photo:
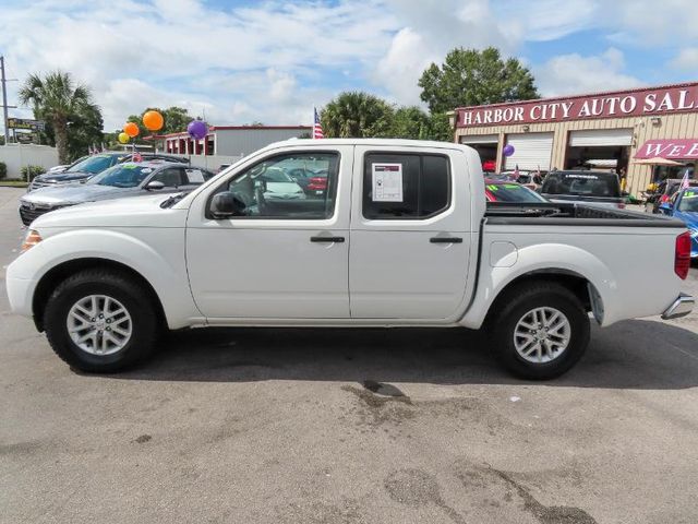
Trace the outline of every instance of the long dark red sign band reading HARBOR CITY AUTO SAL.
{"label": "long dark red sign band reading HARBOR CITY AUTO SAL", "polygon": [[563,122],[594,118],[658,116],[698,111],[698,83],[592,96],[465,107],[457,110],[459,128],[509,123]]}

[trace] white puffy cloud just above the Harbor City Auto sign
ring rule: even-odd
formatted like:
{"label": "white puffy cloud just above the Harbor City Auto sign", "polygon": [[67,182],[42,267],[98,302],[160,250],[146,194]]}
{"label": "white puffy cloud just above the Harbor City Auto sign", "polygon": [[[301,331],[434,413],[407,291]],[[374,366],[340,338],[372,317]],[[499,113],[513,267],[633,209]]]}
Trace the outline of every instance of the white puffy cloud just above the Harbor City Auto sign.
{"label": "white puffy cloud just above the Harbor City Auto sign", "polygon": [[642,82],[623,73],[623,52],[609,48],[599,56],[561,55],[533,68],[543,96],[594,93],[636,87]]}

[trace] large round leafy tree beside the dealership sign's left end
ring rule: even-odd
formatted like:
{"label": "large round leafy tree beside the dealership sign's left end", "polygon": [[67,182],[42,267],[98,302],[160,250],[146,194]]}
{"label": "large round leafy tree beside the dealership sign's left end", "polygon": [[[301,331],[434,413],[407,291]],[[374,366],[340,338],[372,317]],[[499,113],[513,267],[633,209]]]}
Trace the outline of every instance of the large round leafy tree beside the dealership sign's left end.
{"label": "large round leafy tree beside the dealership sign's left end", "polygon": [[432,63],[422,73],[419,86],[433,114],[539,96],[531,72],[515,58],[503,60],[494,47],[453,49],[444,63]]}

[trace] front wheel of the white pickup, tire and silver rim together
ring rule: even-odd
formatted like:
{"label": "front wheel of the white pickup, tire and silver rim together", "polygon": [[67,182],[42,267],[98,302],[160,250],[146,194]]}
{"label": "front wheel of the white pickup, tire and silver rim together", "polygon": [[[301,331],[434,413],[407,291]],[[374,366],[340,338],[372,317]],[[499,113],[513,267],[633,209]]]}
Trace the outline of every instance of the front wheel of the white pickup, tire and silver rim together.
{"label": "front wheel of the white pickup, tire and silver rim together", "polygon": [[56,354],[81,371],[121,370],[148,356],[157,336],[152,300],[127,275],[86,270],[63,281],[44,313]]}

